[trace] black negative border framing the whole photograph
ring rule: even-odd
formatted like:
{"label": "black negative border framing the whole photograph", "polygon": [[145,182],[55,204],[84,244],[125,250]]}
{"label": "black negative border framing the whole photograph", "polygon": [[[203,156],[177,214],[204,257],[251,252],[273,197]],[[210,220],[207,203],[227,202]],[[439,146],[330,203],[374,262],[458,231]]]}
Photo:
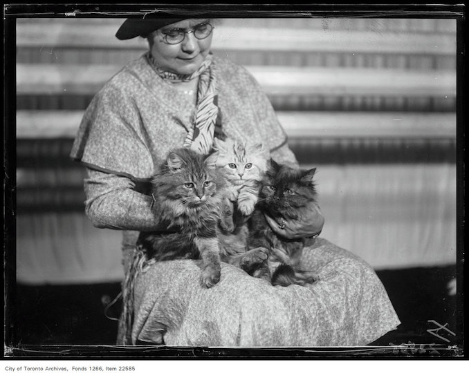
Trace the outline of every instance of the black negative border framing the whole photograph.
{"label": "black negative border framing the whole photograph", "polygon": [[[382,17],[382,18],[451,18],[457,20],[457,325],[463,325],[461,342],[448,344],[412,344],[392,346],[353,346],[353,347],[286,347],[286,348],[244,348],[244,347],[135,347],[111,345],[18,345],[15,343],[17,312],[16,292],[16,79],[15,21],[22,17],[133,17],[150,12],[169,12],[174,15],[187,13],[210,15],[210,17]],[[465,8],[459,4],[412,4],[412,5],[239,5],[239,4],[4,4],[4,301],[5,301],[5,347],[4,355],[14,358],[241,358],[241,359],[285,359],[285,358],[461,358],[464,355],[466,320],[463,314],[463,274],[464,262],[464,213],[465,194],[464,119],[466,105],[463,102],[463,70],[466,41],[464,20]],[[441,325],[443,326],[443,325]],[[436,332],[437,333],[437,332]]]}

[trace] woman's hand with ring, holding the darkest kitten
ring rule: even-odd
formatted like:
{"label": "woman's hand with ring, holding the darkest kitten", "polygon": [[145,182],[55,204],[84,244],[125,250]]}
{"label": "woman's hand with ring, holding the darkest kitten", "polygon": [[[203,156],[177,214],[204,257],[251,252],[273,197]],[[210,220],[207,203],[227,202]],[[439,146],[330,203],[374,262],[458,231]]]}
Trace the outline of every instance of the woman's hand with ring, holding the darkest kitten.
{"label": "woman's hand with ring, holding the darkest kitten", "polygon": [[297,219],[277,218],[277,221],[266,213],[264,213],[264,216],[270,228],[279,236],[288,240],[318,236],[324,226],[324,216],[322,216],[318,204],[315,203],[299,209],[299,218]]}

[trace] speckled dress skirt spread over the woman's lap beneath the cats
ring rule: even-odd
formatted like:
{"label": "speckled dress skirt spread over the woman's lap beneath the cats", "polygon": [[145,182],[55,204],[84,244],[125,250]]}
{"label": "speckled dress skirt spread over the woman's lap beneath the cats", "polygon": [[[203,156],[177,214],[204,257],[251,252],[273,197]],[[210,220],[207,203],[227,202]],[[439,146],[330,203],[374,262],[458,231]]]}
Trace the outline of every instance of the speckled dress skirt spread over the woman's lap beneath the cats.
{"label": "speckled dress skirt spread over the woman's lap beneath the cats", "polygon": [[312,285],[273,287],[222,263],[206,289],[193,260],[158,262],[136,279],[132,341],[167,345],[365,345],[397,327],[383,285],[360,258],[319,238],[304,265]]}

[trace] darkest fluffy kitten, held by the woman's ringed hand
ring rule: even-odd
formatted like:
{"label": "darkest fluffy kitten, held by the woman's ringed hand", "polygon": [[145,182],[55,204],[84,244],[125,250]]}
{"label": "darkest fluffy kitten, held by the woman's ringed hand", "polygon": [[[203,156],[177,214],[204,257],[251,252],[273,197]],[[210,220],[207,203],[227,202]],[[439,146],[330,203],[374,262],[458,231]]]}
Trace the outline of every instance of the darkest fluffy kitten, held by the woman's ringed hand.
{"label": "darkest fluffy kitten, held by the woman's ringed hand", "polygon": [[250,219],[248,238],[248,247],[266,248],[268,260],[245,265],[243,269],[252,276],[265,278],[273,285],[281,286],[305,285],[318,280],[318,276],[301,266],[303,248],[311,244],[312,240],[287,240],[277,236],[264,217],[265,212],[277,221],[298,218],[303,208],[315,202],[315,170],[292,169],[270,160],[270,169],[259,193],[257,209]]}

